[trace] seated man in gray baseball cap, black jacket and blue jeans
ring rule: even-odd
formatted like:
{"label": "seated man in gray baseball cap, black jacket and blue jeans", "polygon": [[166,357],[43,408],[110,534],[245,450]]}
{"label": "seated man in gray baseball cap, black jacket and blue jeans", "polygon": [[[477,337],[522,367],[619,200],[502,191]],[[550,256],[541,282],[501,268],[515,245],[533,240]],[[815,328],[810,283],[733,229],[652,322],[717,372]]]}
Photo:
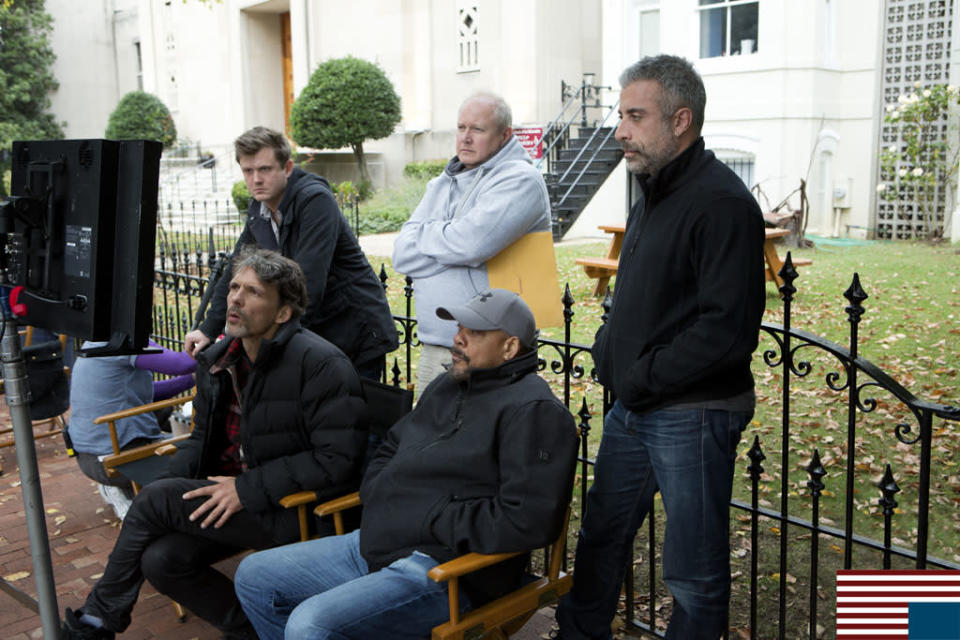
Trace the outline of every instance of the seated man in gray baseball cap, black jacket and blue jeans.
{"label": "seated man in gray baseball cap, black jacket and blue jeans", "polygon": [[[576,427],[536,374],[533,314],[503,289],[436,313],[458,323],[453,364],[377,450],[360,529],[240,564],[237,595],[261,638],[429,636],[448,615],[446,586],[430,569],[559,535]],[[517,588],[526,563],[521,554],[464,578],[464,608]]]}

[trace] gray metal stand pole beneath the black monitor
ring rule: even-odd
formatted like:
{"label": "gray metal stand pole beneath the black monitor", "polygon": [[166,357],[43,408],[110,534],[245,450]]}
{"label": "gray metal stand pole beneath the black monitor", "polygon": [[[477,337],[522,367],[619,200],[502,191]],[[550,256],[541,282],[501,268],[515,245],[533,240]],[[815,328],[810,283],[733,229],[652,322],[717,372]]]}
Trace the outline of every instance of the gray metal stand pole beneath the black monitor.
{"label": "gray metal stand pole beneath the black monitor", "polygon": [[60,613],[57,608],[57,590],[53,581],[53,564],[50,562],[50,541],[47,539],[47,523],[43,511],[43,494],[40,491],[40,472],[37,468],[37,450],[33,442],[33,422],[30,419],[30,388],[27,386],[27,365],[20,348],[17,323],[3,316],[3,341],[0,357],[3,359],[4,390],[10,418],[13,420],[13,436],[17,449],[17,465],[20,467],[20,489],[23,492],[23,508],[27,516],[27,535],[30,538],[30,556],[33,559],[33,577],[40,601],[40,621],[43,637],[60,637]]}

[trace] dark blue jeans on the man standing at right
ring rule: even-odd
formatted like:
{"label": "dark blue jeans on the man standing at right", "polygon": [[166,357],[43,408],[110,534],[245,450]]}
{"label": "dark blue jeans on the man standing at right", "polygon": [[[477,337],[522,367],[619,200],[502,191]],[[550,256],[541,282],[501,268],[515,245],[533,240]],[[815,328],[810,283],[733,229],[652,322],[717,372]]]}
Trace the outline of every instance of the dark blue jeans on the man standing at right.
{"label": "dark blue jeans on the man standing at right", "polygon": [[749,413],[616,402],[603,424],[577,543],[573,590],[557,620],[564,640],[610,638],[633,538],[659,490],[667,513],[663,580],[674,607],[667,638],[716,640],[730,601],[730,493]]}

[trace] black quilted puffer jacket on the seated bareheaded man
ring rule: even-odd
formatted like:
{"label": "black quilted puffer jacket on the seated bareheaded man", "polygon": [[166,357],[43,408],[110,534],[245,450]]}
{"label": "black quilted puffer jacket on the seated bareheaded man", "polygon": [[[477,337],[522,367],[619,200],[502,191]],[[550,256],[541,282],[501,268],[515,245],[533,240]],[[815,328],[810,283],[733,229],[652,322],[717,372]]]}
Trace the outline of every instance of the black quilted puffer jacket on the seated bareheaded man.
{"label": "black quilted puffer jacket on the seated bareheaded man", "polygon": [[[224,413],[232,382],[227,371],[210,373],[229,343],[200,353],[196,419],[178,445],[168,475],[214,474],[226,446]],[[356,489],[367,441],[367,408],[360,379],[335,346],[292,320],[260,345],[241,391],[240,436],[247,470],[237,476],[244,509],[269,515],[297,491],[333,498]],[[290,511],[295,518],[295,510]]]}

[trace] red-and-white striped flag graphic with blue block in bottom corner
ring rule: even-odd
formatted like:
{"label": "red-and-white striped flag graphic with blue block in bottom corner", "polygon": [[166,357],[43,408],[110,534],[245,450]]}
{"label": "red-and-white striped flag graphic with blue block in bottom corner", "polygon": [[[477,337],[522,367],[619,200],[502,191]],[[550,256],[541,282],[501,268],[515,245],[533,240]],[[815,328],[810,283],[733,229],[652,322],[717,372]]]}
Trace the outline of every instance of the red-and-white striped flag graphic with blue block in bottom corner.
{"label": "red-and-white striped flag graphic with blue block in bottom corner", "polygon": [[960,571],[837,571],[837,640],[960,640]]}

